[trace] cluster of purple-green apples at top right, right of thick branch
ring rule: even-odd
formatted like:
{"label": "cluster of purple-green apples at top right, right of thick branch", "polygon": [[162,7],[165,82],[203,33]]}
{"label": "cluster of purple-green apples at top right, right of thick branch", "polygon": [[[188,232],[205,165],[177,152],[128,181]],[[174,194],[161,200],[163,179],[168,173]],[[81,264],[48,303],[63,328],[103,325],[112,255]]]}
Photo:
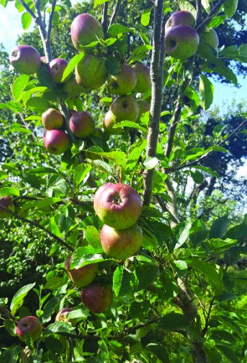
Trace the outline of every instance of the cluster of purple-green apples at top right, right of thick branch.
{"label": "cluster of purple-green apples at top right, right of thick branch", "polygon": [[186,60],[192,57],[204,42],[213,49],[218,48],[218,35],[214,29],[207,29],[199,36],[195,27],[196,19],[191,12],[181,10],[172,14],[165,26],[166,53],[175,59]]}

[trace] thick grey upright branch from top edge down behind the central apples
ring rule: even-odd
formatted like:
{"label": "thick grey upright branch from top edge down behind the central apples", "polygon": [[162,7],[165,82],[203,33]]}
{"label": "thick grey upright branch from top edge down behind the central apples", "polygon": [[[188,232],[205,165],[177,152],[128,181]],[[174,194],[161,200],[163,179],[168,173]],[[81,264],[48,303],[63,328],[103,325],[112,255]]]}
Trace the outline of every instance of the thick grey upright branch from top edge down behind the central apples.
{"label": "thick grey upright branch from top edge down behind the central apples", "polygon": [[[151,108],[150,108],[151,119],[148,127],[147,147],[146,147],[146,156],[149,158],[155,157],[156,155],[157,141],[159,136],[161,103],[163,95],[164,62],[161,62],[161,53],[162,53],[161,38],[164,38],[164,35],[161,34],[163,4],[164,0],[155,0],[153,50],[152,50],[151,71],[150,71],[151,85],[152,85],[152,97],[151,97]],[[153,173],[154,169],[149,169],[144,171],[144,190],[143,190],[144,205],[149,205],[151,201]]]}

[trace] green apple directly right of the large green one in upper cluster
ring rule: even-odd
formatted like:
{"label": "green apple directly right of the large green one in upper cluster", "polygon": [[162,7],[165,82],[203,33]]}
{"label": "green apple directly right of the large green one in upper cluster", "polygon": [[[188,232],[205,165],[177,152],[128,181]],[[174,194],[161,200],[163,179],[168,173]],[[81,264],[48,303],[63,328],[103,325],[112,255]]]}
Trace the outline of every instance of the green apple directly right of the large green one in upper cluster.
{"label": "green apple directly right of the large green one in upper cluster", "polygon": [[107,78],[109,92],[114,95],[127,95],[135,88],[136,82],[135,70],[128,64],[121,64],[120,72]]}

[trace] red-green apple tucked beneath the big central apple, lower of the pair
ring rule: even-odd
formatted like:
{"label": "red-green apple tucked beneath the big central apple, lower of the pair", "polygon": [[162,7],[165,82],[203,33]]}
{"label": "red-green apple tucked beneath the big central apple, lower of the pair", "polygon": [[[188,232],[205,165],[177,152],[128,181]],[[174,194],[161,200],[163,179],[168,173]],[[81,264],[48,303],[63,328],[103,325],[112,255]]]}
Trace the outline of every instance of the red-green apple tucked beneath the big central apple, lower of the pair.
{"label": "red-green apple tucked beneath the big central apple, lower of the pair", "polygon": [[101,229],[101,245],[107,255],[118,260],[125,260],[138,251],[142,245],[142,228],[131,225],[126,229],[115,229],[103,225]]}

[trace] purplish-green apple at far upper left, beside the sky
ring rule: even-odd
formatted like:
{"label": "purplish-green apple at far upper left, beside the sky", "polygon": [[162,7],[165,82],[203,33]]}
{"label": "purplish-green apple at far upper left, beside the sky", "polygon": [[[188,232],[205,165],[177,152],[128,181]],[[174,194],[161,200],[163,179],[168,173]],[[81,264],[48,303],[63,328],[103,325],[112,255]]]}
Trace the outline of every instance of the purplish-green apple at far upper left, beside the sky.
{"label": "purplish-green apple at far upper left, beside the sky", "polygon": [[32,75],[40,69],[40,53],[31,45],[16,45],[10,53],[10,64],[16,71]]}

